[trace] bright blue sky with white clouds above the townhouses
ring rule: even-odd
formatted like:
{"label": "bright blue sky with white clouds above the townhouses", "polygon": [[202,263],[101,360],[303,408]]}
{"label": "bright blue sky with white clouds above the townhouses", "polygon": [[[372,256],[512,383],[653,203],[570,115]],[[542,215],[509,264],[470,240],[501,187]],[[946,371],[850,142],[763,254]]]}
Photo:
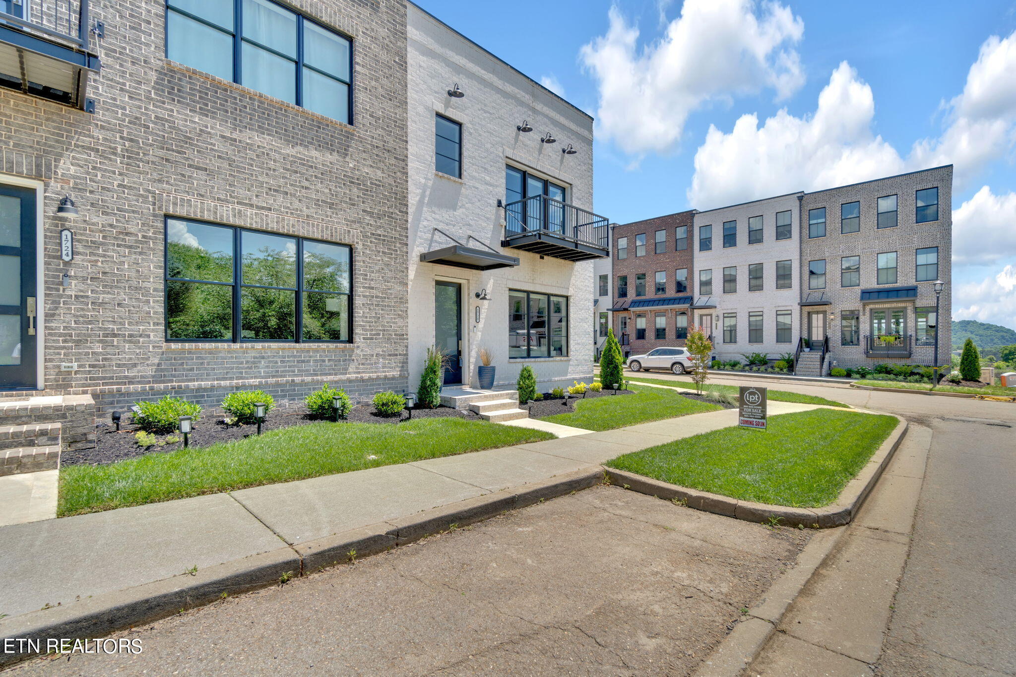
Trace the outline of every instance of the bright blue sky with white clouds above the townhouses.
{"label": "bright blue sky with white clouds above the townhouses", "polygon": [[596,118],[617,222],[953,162],[954,319],[1016,328],[1016,0],[416,1]]}

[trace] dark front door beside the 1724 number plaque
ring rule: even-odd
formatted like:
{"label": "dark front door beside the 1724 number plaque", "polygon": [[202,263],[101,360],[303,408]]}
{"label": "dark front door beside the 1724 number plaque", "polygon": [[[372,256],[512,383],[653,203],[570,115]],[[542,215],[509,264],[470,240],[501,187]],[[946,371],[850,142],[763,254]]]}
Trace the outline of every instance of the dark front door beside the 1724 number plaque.
{"label": "dark front door beside the 1724 number plaque", "polygon": [[36,384],[36,192],[0,184],[0,390]]}

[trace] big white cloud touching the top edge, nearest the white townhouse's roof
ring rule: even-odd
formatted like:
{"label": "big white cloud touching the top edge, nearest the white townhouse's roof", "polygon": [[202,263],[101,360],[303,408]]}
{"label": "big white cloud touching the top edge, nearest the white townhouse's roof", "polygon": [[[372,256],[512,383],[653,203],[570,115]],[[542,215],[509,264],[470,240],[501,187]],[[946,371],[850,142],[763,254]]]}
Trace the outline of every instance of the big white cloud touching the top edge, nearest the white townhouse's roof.
{"label": "big white cloud touching the top edge, nearest the white townhouse's roof", "polygon": [[614,6],[607,35],[580,53],[599,89],[598,133],[631,154],[661,152],[681,140],[688,116],[710,103],[763,87],[785,98],[804,83],[791,47],[804,30],[773,0],[685,0],[662,38],[640,47],[639,29]]}

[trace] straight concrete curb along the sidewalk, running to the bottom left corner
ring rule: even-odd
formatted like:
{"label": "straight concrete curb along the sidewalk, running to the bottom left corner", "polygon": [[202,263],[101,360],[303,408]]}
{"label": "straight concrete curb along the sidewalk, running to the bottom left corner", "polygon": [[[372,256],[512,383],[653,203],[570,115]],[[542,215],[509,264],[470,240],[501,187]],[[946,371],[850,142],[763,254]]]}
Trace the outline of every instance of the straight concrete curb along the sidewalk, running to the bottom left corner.
{"label": "straight concrete curb along the sidewalk, running to the bottom left corner", "polygon": [[[193,574],[146,583],[96,595],[49,609],[0,619],[0,642],[25,638],[92,638],[123,630],[185,609],[210,604],[224,594],[280,585],[283,578],[303,577],[334,564],[384,552],[427,536],[497,517],[510,510],[586,489],[604,481],[592,466],[550,479],[504,489],[431,509],[390,522],[371,525],[209,566]],[[354,554],[355,551],[355,554]],[[0,666],[30,658],[37,652],[0,653]]]}

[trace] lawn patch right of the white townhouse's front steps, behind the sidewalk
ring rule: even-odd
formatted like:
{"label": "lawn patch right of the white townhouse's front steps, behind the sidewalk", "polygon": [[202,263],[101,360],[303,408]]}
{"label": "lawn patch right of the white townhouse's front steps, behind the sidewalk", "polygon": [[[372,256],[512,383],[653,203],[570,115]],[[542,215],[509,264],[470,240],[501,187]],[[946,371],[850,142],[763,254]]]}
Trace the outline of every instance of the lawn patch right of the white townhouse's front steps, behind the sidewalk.
{"label": "lawn patch right of the white townhouse's front steps, behind the sidewalk", "polygon": [[635,387],[631,390],[635,391],[634,395],[578,400],[574,412],[546,416],[543,420],[587,430],[610,430],[721,408],[715,404],[688,399],[673,390]]}

